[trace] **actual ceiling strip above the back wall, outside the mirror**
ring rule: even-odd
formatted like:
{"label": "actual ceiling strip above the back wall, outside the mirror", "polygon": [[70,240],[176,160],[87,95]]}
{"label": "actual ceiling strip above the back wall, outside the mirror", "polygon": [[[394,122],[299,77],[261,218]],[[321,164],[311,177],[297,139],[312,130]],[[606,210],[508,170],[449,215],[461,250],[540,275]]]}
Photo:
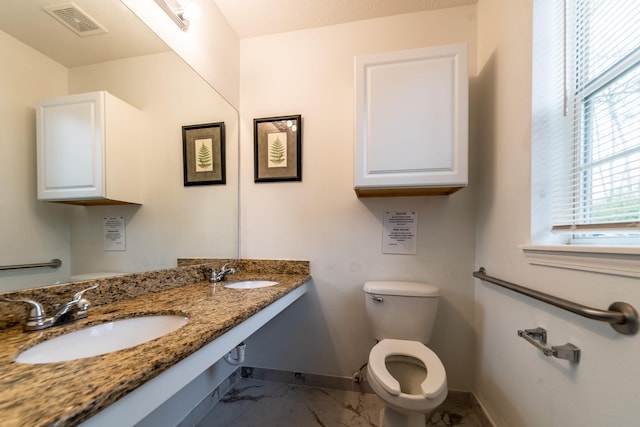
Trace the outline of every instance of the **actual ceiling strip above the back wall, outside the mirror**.
{"label": "actual ceiling strip above the back wall, outside the mirror", "polygon": [[[201,0],[202,1],[202,0]],[[240,38],[342,24],[478,0],[213,0]]]}

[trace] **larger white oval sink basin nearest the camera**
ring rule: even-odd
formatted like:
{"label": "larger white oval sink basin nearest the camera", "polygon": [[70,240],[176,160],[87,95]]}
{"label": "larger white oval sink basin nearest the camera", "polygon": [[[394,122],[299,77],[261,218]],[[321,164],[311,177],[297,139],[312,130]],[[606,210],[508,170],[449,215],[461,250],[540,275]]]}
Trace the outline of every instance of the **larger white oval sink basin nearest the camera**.
{"label": "larger white oval sink basin nearest the camera", "polygon": [[19,353],[18,363],[64,362],[124,350],[173,332],[187,324],[184,316],[142,316],[70,332]]}

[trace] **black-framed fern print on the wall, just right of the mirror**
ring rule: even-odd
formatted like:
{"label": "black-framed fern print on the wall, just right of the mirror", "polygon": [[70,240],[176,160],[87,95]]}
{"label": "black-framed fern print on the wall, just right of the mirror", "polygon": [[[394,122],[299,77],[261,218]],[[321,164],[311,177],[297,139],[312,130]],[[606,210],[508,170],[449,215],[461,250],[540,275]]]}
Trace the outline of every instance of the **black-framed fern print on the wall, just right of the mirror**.
{"label": "black-framed fern print on the wall, just right of the mirror", "polygon": [[302,181],[302,116],[253,119],[254,182]]}

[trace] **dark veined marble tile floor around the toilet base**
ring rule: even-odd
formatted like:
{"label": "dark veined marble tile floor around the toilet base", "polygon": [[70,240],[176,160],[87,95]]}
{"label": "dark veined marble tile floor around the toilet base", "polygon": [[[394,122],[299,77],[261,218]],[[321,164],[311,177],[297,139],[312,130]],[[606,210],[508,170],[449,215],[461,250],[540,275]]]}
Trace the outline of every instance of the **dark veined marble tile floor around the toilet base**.
{"label": "dark veined marble tile floor around the toilet base", "polygon": [[[371,393],[242,378],[196,427],[379,427]],[[445,402],[427,427],[481,427],[470,405]]]}

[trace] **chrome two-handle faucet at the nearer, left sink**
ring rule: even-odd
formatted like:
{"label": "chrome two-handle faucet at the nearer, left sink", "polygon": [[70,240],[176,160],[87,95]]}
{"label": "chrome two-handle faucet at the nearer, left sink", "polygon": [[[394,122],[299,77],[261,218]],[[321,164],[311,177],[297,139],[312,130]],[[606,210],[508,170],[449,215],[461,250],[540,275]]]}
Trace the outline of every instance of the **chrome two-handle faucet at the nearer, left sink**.
{"label": "chrome two-handle faucet at the nearer, left sink", "polygon": [[[9,299],[0,298],[0,301],[6,302],[20,302],[31,305],[31,311],[27,316],[27,320],[24,323],[25,332],[40,331],[52,326],[61,325],[67,322],[73,322],[78,319],[83,319],[89,314],[89,301],[83,297],[84,293],[98,287],[98,283],[94,283],[87,289],[83,289],[80,292],[76,292],[73,295],[73,299],[69,302],[62,304],[57,313],[53,316],[47,316],[45,314],[42,304],[30,299]],[[56,307],[57,308],[57,307]]]}

